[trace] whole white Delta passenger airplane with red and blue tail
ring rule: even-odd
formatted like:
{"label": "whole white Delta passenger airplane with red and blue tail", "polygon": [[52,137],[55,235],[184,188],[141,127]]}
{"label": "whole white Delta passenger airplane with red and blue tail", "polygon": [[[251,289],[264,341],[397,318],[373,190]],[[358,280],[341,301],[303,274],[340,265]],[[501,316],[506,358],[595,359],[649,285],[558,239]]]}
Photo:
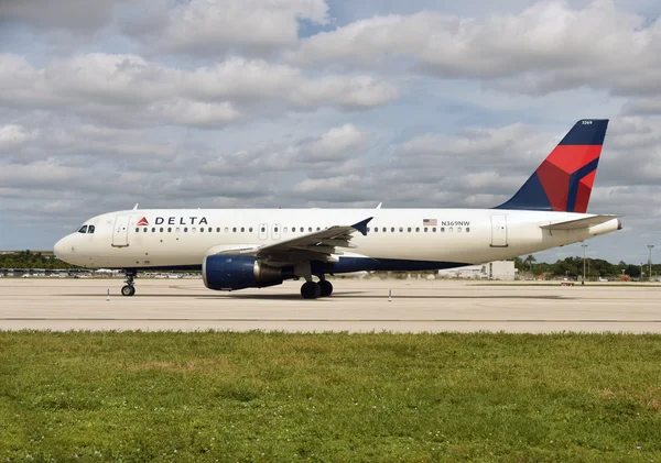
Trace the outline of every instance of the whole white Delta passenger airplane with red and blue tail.
{"label": "whole white Delta passenger airplane with red and blue tail", "polygon": [[[61,260],[121,268],[123,296],[140,269],[202,268],[209,289],[304,278],[306,299],[329,296],[325,276],[429,271],[510,258],[621,229],[586,213],[608,120],[581,120],[507,202],[494,209],[156,209],[87,220],[55,244]],[[318,280],[314,280],[316,277]]]}

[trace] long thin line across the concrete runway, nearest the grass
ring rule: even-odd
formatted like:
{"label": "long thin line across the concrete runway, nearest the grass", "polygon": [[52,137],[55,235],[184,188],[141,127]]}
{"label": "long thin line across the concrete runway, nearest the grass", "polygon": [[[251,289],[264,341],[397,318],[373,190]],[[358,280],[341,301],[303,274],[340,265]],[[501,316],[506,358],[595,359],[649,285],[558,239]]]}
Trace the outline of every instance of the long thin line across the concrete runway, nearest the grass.
{"label": "long thin line across the concrete runway, nearest the grass", "polygon": [[661,323],[661,320],[619,320],[619,319],[322,319],[322,318],[46,318],[46,317],[2,317],[0,321],[229,321],[229,322],[476,322],[476,323]]}

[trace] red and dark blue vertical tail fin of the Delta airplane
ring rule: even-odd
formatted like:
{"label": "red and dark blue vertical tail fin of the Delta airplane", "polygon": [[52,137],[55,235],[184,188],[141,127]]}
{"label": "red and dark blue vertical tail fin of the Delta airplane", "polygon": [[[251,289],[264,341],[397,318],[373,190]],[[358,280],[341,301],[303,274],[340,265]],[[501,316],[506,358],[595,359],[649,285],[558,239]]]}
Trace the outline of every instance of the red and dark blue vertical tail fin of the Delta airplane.
{"label": "red and dark blue vertical tail fin of the Delta airplane", "polygon": [[576,122],[510,200],[496,209],[587,210],[608,119]]}

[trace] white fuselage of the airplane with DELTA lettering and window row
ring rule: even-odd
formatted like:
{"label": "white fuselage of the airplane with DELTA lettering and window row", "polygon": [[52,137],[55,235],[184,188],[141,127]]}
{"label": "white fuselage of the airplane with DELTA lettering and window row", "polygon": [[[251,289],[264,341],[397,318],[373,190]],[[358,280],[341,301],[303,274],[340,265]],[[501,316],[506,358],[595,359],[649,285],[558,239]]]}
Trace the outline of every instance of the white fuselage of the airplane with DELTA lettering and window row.
{"label": "white fuselage of the airplane with DELTA lettering and window row", "polygon": [[215,246],[267,245],[370,217],[367,235],[356,233],[355,247],[338,250],[344,252],[338,257],[382,260],[379,269],[444,268],[509,258],[619,227],[613,219],[592,228],[551,231],[540,227],[593,214],[499,209],[144,209],[97,216],[85,222],[94,225],[94,233],[63,238],[55,253],[88,268],[201,266]]}

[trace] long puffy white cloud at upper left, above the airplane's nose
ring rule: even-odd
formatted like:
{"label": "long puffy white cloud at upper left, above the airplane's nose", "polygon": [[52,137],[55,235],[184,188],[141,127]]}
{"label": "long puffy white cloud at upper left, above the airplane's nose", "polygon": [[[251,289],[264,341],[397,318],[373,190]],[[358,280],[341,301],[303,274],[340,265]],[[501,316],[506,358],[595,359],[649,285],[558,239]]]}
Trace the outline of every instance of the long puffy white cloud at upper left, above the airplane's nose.
{"label": "long puffy white cloud at upper left, above the airplane's nose", "polygon": [[66,109],[117,125],[224,126],[288,107],[364,110],[397,97],[397,88],[381,79],[310,78],[260,59],[234,57],[184,70],[137,55],[90,53],[35,68],[21,56],[0,54],[0,103]]}

